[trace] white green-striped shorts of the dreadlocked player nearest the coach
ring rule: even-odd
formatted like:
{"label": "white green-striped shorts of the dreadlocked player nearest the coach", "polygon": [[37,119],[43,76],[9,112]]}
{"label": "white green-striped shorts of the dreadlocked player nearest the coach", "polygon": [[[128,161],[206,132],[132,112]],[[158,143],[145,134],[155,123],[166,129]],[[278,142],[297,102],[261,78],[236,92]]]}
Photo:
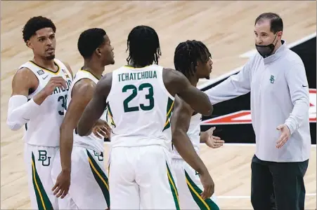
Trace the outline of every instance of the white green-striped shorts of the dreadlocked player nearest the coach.
{"label": "white green-striped shorts of the dreadlocked player nearest the coach", "polygon": [[203,200],[200,197],[203,187],[199,175],[185,160],[172,159],[172,168],[177,179],[181,209],[219,210],[219,207],[215,203],[216,197],[214,195],[207,200]]}

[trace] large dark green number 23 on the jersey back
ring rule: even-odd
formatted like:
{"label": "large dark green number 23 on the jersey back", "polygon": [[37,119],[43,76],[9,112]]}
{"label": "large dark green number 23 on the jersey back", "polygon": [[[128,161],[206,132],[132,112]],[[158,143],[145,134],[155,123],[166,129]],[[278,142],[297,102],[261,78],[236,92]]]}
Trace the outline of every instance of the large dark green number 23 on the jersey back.
{"label": "large dark green number 23 on the jersey back", "polygon": [[[129,102],[138,95],[138,91],[143,89],[148,89],[148,94],[145,94],[145,99],[148,99],[148,105],[139,104],[139,106],[129,106]],[[153,86],[150,83],[143,83],[138,88],[134,85],[124,85],[122,92],[127,92],[127,90],[132,90],[132,93],[123,101],[124,112],[138,111],[138,107],[143,111],[149,111],[154,107],[154,98],[153,98]]]}

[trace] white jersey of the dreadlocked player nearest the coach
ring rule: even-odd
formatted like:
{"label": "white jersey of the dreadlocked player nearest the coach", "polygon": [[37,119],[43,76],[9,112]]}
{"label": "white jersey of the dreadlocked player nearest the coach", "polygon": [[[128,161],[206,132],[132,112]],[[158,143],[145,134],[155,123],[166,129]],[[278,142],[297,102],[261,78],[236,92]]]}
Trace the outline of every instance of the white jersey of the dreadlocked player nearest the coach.
{"label": "white jersey of the dreadlocked player nearest the coach", "polygon": [[[196,113],[194,116],[190,118],[190,124],[188,127],[187,135],[193,144],[196,153],[199,154],[200,151],[200,124],[202,120],[202,114]],[[176,148],[173,148],[172,153],[173,158],[181,158],[181,155],[176,151]]]}

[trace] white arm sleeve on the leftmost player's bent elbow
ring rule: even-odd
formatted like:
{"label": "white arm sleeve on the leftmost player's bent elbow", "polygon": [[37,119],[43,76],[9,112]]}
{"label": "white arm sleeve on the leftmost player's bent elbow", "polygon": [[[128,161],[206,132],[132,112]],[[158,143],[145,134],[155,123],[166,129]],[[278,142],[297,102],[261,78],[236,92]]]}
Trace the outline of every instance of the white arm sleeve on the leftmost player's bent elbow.
{"label": "white arm sleeve on the leftmost player's bent elbow", "polygon": [[14,95],[8,102],[8,118],[6,124],[11,130],[19,130],[33,116],[37,116],[39,105],[33,99],[27,102],[24,95]]}

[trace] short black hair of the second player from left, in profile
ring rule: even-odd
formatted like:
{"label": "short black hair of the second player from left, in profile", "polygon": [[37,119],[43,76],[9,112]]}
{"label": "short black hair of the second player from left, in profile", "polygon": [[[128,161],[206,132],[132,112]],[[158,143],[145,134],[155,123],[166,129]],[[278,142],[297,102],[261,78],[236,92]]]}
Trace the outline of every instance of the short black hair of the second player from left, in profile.
{"label": "short black hair of the second player from left, in profile", "polygon": [[104,36],[106,34],[104,29],[99,28],[86,29],[83,31],[77,43],[80,55],[82,55],[84,59],[90,58],[93,52],[105,43]]}

